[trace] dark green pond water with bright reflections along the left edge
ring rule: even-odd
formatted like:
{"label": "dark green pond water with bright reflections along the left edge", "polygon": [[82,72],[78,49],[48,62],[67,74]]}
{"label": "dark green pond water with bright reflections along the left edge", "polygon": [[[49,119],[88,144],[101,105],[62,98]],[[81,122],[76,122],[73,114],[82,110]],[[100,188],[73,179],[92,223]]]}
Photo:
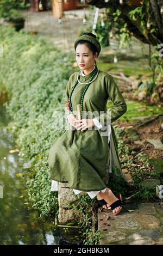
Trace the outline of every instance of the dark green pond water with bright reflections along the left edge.
{"label": "dark green pond water with bright reflections along the left edge", "polygon": [[9,117],[0,109],[0,244],[1,245],[58,245],[59,228],[51,230],[47,223],[39,222],[39,213],[29,211],[23,198],[24,179],[22,162],[15,149],[14,138],[6,126]]}

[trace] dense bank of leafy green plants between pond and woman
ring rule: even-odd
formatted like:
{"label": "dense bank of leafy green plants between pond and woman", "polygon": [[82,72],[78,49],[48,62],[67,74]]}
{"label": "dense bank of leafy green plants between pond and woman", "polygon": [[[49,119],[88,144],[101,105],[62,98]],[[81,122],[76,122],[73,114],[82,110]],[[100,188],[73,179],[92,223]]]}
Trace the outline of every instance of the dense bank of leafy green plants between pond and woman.
{"label": "dense bank of leafy green plants between pond and woman", "polygon": [[[2,27],[0,90],[7,88],[9,101],[4,103],[12,121],[9,129],[16,136],[27,178],[29,206],[41,216],[57,213],[57,192],[51,192],[48,151],[58,138],[58,122],[64,116],[62,98],[73,72],[71,56],[58,50],[39,35],[15,32]],[[57,111],[57,116],[52,117]]]}

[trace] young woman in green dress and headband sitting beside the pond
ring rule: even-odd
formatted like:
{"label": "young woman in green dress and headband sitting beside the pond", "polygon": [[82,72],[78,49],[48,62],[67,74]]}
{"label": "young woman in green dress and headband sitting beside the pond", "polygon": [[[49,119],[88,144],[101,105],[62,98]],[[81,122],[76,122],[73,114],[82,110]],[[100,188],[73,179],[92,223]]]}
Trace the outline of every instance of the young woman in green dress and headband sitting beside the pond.
{"label": "young woman in green dress and headband sitting beside the pond", "polygon": [[[59,181],[68,182],[74,193],[85,191],[91,198],[97,196],[104,208],[117,215],[122,200],[107,187],[112,168],[117,167],[122,174],[111,123],[127,111],[126,102],[112,76],[97,68],[101,45],[96,35],[84,33],[74,48],[80,71],[70,76],[64,101],[71,129],[65,130],[49,150],[51,190],[58,190]],[[114,107],[106,111],[108,99]]]}

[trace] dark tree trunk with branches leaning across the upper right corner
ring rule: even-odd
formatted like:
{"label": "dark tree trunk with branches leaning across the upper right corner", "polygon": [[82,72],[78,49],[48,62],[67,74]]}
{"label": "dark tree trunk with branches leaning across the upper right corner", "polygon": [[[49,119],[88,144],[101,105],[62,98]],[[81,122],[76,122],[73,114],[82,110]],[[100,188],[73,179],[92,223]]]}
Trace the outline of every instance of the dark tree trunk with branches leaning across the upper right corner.
{"label": "dark tree trunk with branches leaning across the upper right corner", "polygon": [[[135,38],[144,42],[145,44],[157,45],[163,42],[163,15],[160,14],[161,6],[163,5],[163,0],[150,0],[149,11],[147,5],[141,4],[141,1],[130,1],[128,4],[124,1],[123,5],[120,5],[118,0],[109,0],[105,3],[103,0],[86,0],[89,4],[95,5],[98,8],[109,8],[110,13],[108,14],[108,19],[114,20],[112,15],[118,9],[121,11],[121,15],[118,17],[118,23],[123,26],[124,22],[128,23],[128,31],[133,33]],[[151,29],[155,28],[156,31],[151,33],[150,30],[145,27],[146,33],[142,33],[142,26],[140,25],[140,20],[132,20],[129,16],[129,12],[137,7],[143,7],[143,21],[147,24],[148,18],[150,18]]]}

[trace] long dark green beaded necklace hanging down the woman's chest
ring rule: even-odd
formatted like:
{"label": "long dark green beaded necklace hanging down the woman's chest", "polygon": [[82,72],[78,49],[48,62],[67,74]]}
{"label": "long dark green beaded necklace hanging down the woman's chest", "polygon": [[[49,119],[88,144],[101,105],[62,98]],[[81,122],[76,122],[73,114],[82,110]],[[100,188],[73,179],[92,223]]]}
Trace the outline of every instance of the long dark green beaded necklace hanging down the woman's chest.
{"label": "long dark green beaded necklace hanging down the woman's chest", "polygon": [[[83,113],[83,100],[84,100],[84,95],[87,91],[87,88],[89,88],[89,85],[90,85],[90,82],[93,80],[93,78],[96,76],[98,72],[98,69],[97,67],[95,68],[95,70],[93,71],[93,74],[91,75],[90,79],[89,79],[89,82],[88,84],[86,85],[85,89],[84,89],[84,92],[82,94],[82,97],[81,97],[81,119],[82,119],[82,113]],[[80,75],[78,76],[78,80],[80,79]],[[73,113],[73,108],[72,108],[72,102],[71,102],[71,96],[72,96],[72,93],[74,91],[74,89],[76,88],[77,84],[78,84],[78,80],[76,80],[76,82],[74,83],[74,86],[71,88],[70,90],[70,96],[69,96],[69,101],[70,101],[70,110],[71,112]]]}

